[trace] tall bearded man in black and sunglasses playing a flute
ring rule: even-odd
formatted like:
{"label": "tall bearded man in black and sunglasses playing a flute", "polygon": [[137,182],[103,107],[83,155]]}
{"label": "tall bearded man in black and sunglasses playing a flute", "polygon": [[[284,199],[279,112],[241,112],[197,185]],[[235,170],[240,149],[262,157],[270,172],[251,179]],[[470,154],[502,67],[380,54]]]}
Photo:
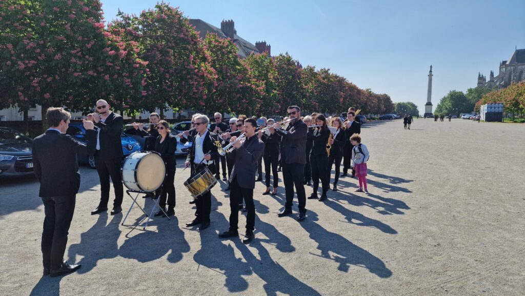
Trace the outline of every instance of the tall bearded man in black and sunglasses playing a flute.
{"label": "tall bearded man in black and sunglasses playing a flute", "polygon": [[275,131],[282,137],[281,160],[282,179],[285,182],[286,203],[278,217],[285,217],[292,213],[293,186],[297,190],[299,200],[298,221],[306,219],[306,193],[304,192],[304,165],[306,165],[306,134],[308,127],[301,120],[301,108],[288,107],[290,123],[281,129],[279,124],[274,124]]}

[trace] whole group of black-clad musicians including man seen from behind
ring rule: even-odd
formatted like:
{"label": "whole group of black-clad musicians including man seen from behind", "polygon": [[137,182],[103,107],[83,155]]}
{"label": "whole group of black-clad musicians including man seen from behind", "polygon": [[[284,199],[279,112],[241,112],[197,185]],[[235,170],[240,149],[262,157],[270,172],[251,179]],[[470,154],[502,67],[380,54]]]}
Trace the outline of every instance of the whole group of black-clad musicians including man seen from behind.
{"label": "whole group of black-clad musicians including man seen from behind", "polygon": [[[87,144],[81,144],[69,135],[65,135],[71,115],[62,108],[49,108],[47,120],[50,128],[45,134],[35,138],[33,143],[33,161],[35,174],[39,179],[40,197],[44,201],[45,221],[42,234],[42,252],[44,274],[52,276],[75,271],[78,264],[69,264],[63,260],[67,243],[67,234],[75,207],[76,194],[80,184],[77,165],[77,152],[94,155],[95,166],[100,178],[101,198],[99,205],[91,215],[108,210],[110,178],[113,183],[115,199],[111,215],[122,211],[123,187],[120,174],[122,149],[121,131],[123,119],[110,110],[106,100],[98,100],[96,113],[89,114],[83,125],[86,128]],[[171,135],[169,124],[161,120],[156,113],[150,115],[150,125],[134,123],[137,135],[147,137],[145,150],[160,154],[166,166],[166,176],[161,188],[152,194],[159,197],[162,210],[155,216],[174,215],[175,207],[175,150],[177,138],[181,142],[191,141],[191,148],[184,167],[191,168],[191,175],[204,167],[219,175],[219,163],[222,164],[223,180],[228,181],[230,197],[229,228],[219,233],[220,238],[238,237],[238,211],[247,211],[246,234],[244,243],[254,239],[255,206],[254,188],[256,173],[262,178],[262,162],[265,164],[266,190],[263,195],[276,195],[278,188],[278,165],[282,169],[285,185],[286,203],[278,217],[292,214],[293,196],[297,193],[299,215],[297,220],[306,219],[306,192],[304,185],[313,181],[311,199],[324,201],[330,184],[330,171],[335,162],[333,190],[337,190],[339,167],[343,162],[343,175],[351,168],[352,144],[350,136],[360,134],[360,124],[354,119],[355,110],[350,108],[344,123],[339,117],[326,118],[322,114],[302,117],[298,106],[288,108],[288,117],[282,122],[274,119],[247,118],[239,115],[229,120],[229,126],[222,122],[222,115],[215,114],[215,123],[208,129],[209,118],[195,114],[192,117],[193,128],[180,135]],[[261,121],[262,120],[262,121]],[[281,124],[285,124],[281,126]],[[242,140],[240,140],[242,139]],[[233,146],[233,152],[225,156],[218,149],[226,145]],[[57,167],[65,163],[67,167]],[[227,172],[226,172],[227,168]],[[228,176],[226,178],[226,175]],[[354,172],[352,171],[352,177]],[[271,182],[270,176],[273,177]],[[317,191],[321,180],[322,193]],[[67,185],[67,186],[65,186]],[[270,191],[270,185],[272,190]],[[66,188],[67,187],[67,188]],[[243,206],[243,201],[245,207]],[[210,224],[211,191],[202,193],[191,201],[195,204],[195,219],[186,223],[187,227],[199,226],[204,230]],[[165,206],[168,209],[165,209]]]}

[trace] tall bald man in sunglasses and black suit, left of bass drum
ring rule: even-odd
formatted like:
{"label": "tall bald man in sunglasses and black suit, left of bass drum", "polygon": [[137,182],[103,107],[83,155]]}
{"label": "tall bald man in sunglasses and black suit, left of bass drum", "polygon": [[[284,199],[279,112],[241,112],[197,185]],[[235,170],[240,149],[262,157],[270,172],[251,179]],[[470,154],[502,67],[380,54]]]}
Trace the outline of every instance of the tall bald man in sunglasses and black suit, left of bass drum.
{"label": "tall bald man in sunglasses and black suit, left of bass drum", "polygon": [[122,197],[124,190],[122,187],[122,142],[121,133],[124,125],[122,116],[114,114],[105,100],[97,101],[97,113],[88,115],[88,119],[95,123],[98,132],[97,150],[95,151],[95,167],[100,178],[100,202],[91,211],[91,215],[108,210],[109,201],[109,178],[113,183],[115,200],[111,215],[116,215],[122,211]]}

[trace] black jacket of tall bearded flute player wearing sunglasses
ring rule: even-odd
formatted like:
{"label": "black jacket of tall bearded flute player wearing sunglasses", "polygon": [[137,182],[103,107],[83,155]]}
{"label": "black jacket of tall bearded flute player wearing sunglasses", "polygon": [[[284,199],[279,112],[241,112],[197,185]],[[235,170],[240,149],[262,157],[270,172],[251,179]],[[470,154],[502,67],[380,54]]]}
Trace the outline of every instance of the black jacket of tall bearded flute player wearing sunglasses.
{"label": "black jacket of tall bearded flute player wearing sunglasses", "polygon": [[286,130],[276,128],[275,131],[282,136],[281,160],[285,164],[306,165],[306,134],[308,127],[301,119],[289,124]]}

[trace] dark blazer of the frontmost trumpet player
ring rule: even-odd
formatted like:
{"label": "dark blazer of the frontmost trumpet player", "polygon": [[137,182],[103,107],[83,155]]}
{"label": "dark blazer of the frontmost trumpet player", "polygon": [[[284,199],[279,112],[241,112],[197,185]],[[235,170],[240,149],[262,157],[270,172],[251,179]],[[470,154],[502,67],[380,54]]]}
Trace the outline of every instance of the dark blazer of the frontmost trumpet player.
{"label": "dark blazer of the frontmost trumpet player", "polygon": [[255,188],[255,170],[257,161],[264,152],[264,142],[257,135],[244,141],[243,146],[236,150],[235,165],[233,166],[232,175],[229,181],[232,182],[237,177],[237,182],[241,188]]}

